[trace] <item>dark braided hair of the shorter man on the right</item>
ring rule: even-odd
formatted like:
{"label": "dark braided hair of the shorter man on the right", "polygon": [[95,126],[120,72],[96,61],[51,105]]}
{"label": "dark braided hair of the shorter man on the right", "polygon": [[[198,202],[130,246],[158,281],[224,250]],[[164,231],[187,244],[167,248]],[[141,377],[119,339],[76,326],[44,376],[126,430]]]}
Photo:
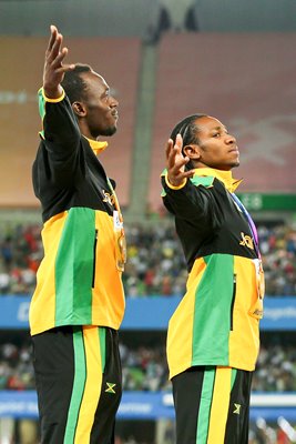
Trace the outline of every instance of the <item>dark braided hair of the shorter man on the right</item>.
{"label": "dark braided hair of the shorter man on the right", "polygon": [[[181,134],[183,139],[183,147],[190,145],[191,143],[196,143],[198,144],[198,127],[196,125],[195,121],[201,119],[201,118],[206,118],[207,114],[192,114],[187,115],[185,119],[181,120],[175,128],[173,129],[171,133],[171,139],[175,143],[176,141],[176,135]],[[185,157],[184,151],[182,150],[182,154]],[[185,169],[191,170],[193,169],[194,165],[190,161]]]}

